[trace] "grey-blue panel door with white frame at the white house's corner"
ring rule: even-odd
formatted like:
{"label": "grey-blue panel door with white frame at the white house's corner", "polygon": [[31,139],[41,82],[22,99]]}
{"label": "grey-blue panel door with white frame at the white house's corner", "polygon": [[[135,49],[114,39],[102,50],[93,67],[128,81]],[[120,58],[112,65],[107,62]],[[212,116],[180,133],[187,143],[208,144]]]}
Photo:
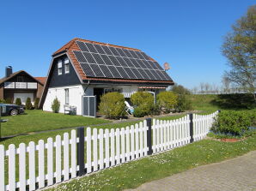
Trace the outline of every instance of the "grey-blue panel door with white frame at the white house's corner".
{"label": "grey-blue panel door with white frame at the white house's corner", "polygon": [[96,117],[96,96],[82,96],[82,116]]}

